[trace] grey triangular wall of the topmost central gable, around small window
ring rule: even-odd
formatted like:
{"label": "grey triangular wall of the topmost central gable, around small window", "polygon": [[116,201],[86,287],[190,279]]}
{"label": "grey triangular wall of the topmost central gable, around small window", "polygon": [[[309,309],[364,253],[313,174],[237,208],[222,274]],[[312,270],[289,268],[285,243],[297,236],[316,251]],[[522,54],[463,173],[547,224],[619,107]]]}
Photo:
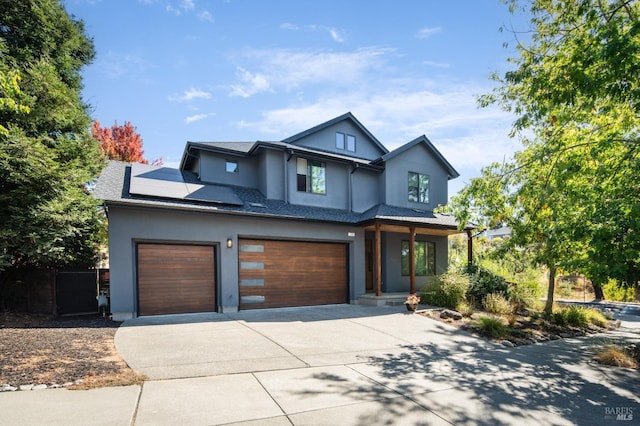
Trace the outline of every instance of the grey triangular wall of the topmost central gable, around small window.
{"label": "grey triangular wall of the topmost central gable, around small window", "polygon": [[[356,151],[336,148],[336,132],[356,137]],[[306,136],[304,139],[294,142],[298,146],[321,151],[331,152],[338,155],[348,155],[351,157],[375,160],[384,154],[380,148],[367,136],[360,128],[349,121],[342,121],[322,129],[316,133]]]}

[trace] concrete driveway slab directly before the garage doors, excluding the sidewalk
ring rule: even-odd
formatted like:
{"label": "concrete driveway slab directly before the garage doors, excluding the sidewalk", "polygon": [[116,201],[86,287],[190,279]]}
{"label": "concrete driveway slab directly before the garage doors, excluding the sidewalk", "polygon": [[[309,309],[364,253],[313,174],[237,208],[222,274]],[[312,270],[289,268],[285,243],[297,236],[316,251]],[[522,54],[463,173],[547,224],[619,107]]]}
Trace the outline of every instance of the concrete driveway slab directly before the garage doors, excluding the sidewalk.
{"label": "concrete driveway slab directly before the garage doors, excluding the sidewalk", "polygon": [[115,343],[151,379],[362,363],[411,346],[438,356],[495,347],[404,306],[356,305],[137,318]]}

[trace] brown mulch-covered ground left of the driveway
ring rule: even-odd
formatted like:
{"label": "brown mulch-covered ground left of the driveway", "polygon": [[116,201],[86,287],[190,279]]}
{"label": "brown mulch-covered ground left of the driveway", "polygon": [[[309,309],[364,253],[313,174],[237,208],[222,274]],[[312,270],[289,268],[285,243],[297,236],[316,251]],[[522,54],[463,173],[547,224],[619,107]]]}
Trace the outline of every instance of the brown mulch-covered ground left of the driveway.
{"label": "brown mulch-covered ground left of the driveway", "polygon": [[113,343],[119,326],[98,315],[0,313],[0,385],[50,386],[132,375]]}

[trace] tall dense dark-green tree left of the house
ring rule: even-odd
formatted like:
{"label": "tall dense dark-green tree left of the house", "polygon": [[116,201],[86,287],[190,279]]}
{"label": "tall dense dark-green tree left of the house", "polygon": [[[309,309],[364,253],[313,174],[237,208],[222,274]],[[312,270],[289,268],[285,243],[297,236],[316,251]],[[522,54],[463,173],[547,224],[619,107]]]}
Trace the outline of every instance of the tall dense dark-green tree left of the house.
{"label": "tall dense dark-green tree left of the house", "polygon": [[104,160],[80,94],[93,57],[82,23],[60,2],[0,2],[3,307],[21,268],[93,264],[103,220],[87,183]]}

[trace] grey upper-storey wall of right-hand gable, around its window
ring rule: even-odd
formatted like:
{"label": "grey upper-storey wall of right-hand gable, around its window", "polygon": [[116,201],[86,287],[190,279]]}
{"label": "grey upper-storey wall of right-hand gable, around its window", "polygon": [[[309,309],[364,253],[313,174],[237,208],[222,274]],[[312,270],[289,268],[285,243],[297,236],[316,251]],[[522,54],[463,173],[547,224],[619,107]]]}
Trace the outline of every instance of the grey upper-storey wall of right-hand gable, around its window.
{"label": "grey upper-storey wall of right-hand gable, around its window", "polygon": [[[429,203],[413,203],[408,200],[408,173],[429,176]],[[385,202],[399,207],[433,210],[447,204],[449,179],[447,171],[429,153],[424,145],[416,145],[387,161],[384,171]]]}

